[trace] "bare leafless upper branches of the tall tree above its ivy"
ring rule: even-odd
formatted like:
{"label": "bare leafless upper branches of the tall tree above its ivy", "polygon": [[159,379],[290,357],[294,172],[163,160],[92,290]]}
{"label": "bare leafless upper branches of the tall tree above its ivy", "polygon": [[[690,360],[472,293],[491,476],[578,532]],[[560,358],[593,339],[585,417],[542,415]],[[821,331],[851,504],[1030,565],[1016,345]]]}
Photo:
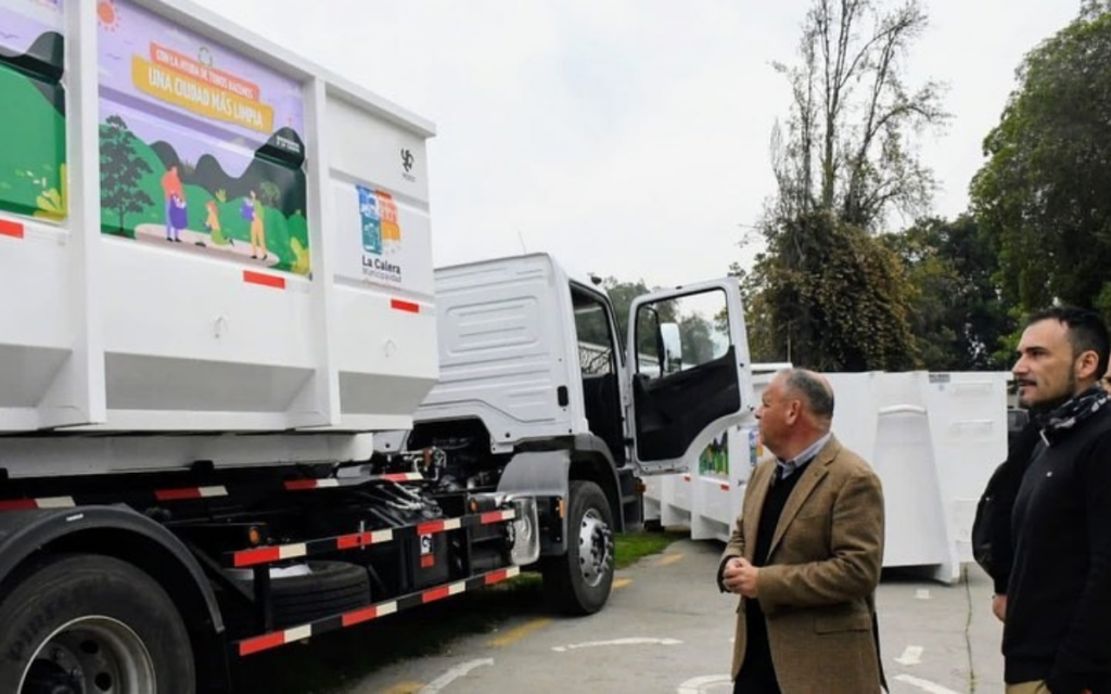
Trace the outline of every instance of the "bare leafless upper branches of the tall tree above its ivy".
{"label": "bare leafless upper branches of the tall tree above its ivy", "polygon": [[814,0],[801,64],[775,63],[793,94],[785,132],[772,135],[779,217],[819,209],[874,232],[892,210],[913,218],[929,205],[933,178],[911,138],[948,114],[940,87],[910,89],[903,63],[928,19],[918,0],[881,6]]}

